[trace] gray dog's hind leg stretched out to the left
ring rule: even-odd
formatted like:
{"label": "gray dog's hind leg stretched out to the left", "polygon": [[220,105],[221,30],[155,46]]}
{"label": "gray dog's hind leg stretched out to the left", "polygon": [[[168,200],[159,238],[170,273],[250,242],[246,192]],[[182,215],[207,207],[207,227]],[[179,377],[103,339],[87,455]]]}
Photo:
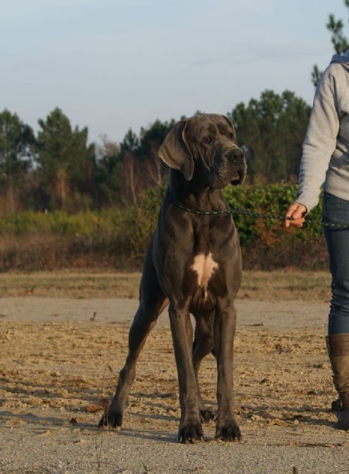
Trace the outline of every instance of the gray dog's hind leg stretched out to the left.
{"label": "gray dog's hind leg stretched out to the left", "polygon": [[148,250],[141,279],[139,306],[129,330],[129,354],[126,363],[119,373],[117,391],[110,407],[105,411],[99,426],[121,427],[124,405],[136,377],[136,362],[150,330],[158,316],[167,306],[168,301],[162,293],[158,277]]}

